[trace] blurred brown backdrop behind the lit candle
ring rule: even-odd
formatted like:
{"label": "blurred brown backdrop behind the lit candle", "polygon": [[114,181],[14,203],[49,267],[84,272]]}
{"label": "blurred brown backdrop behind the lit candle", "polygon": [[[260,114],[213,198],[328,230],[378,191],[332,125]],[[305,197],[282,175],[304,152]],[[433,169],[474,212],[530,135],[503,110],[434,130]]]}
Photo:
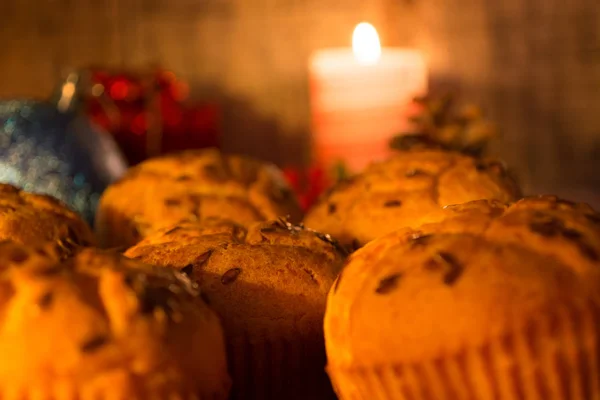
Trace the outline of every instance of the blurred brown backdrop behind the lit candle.
{"label": "blurred brown backdrop behind the lit candle", "polygon": [[423,54],[431,90],[483,108],[528,192],[600,203],[597,0],[1,0],[0,15],[0,97],[48,98],[72,68],[160,67],[217,105],[225,150],[281,166],[312,162],[310,55],[366,20]]}

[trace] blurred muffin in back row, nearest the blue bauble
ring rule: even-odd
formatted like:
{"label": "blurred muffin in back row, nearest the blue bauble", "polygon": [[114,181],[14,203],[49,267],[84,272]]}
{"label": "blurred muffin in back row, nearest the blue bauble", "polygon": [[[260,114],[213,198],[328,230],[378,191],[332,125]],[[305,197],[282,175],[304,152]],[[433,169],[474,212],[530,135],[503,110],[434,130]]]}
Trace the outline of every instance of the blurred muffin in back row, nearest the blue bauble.
{"label": "blurred muffin in back row, nearest the blue bauble", "polygon": [[222,217],[242,225],[302,211],[273,165],[217,150],[190,150],[132,168],[102,195],[96,231],[105,247],[131,246],[162,226]]}

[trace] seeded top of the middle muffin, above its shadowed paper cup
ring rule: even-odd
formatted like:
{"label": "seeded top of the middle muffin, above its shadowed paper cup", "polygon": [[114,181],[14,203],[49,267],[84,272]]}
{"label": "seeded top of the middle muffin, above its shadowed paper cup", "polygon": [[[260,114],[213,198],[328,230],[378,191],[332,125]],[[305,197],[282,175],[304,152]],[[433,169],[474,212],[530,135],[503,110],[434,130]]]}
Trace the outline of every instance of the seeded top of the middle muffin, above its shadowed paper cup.
{"label": "seeded top of the middle muffin, above its shadowed paper cup", "polygon": [[345,252],[328,235],[284,219],[249,228],[207,219],[162,229],[125,255],[188,274],[229,334],[322,332],[327,292]]}

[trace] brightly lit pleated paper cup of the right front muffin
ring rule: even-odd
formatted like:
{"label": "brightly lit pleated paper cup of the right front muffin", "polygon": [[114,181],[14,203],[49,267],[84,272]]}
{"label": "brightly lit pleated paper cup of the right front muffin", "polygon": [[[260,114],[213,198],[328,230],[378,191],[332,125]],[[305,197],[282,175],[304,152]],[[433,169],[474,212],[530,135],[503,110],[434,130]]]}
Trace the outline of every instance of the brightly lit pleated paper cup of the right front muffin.
{"label": "brightly lit pleated paper cup of the right front muffin", "polygon": [[599,315],[592,302],[557,306],[452,356],[327,371],[343,400],[597,400]]}

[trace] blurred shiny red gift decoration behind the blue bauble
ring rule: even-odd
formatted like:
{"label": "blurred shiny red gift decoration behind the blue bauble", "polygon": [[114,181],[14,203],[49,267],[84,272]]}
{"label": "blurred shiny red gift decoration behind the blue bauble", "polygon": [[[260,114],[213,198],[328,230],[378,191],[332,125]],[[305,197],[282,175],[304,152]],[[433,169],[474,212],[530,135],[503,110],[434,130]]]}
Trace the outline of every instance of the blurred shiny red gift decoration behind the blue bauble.
{"label": "blurred shiny red gift decoration behind the blue bauble", "polygon": [[90,72],[86,112],[114,135],[130,164],[173,151],[219,147],[220,108],[190,104],[189,86],[172,72]]}

